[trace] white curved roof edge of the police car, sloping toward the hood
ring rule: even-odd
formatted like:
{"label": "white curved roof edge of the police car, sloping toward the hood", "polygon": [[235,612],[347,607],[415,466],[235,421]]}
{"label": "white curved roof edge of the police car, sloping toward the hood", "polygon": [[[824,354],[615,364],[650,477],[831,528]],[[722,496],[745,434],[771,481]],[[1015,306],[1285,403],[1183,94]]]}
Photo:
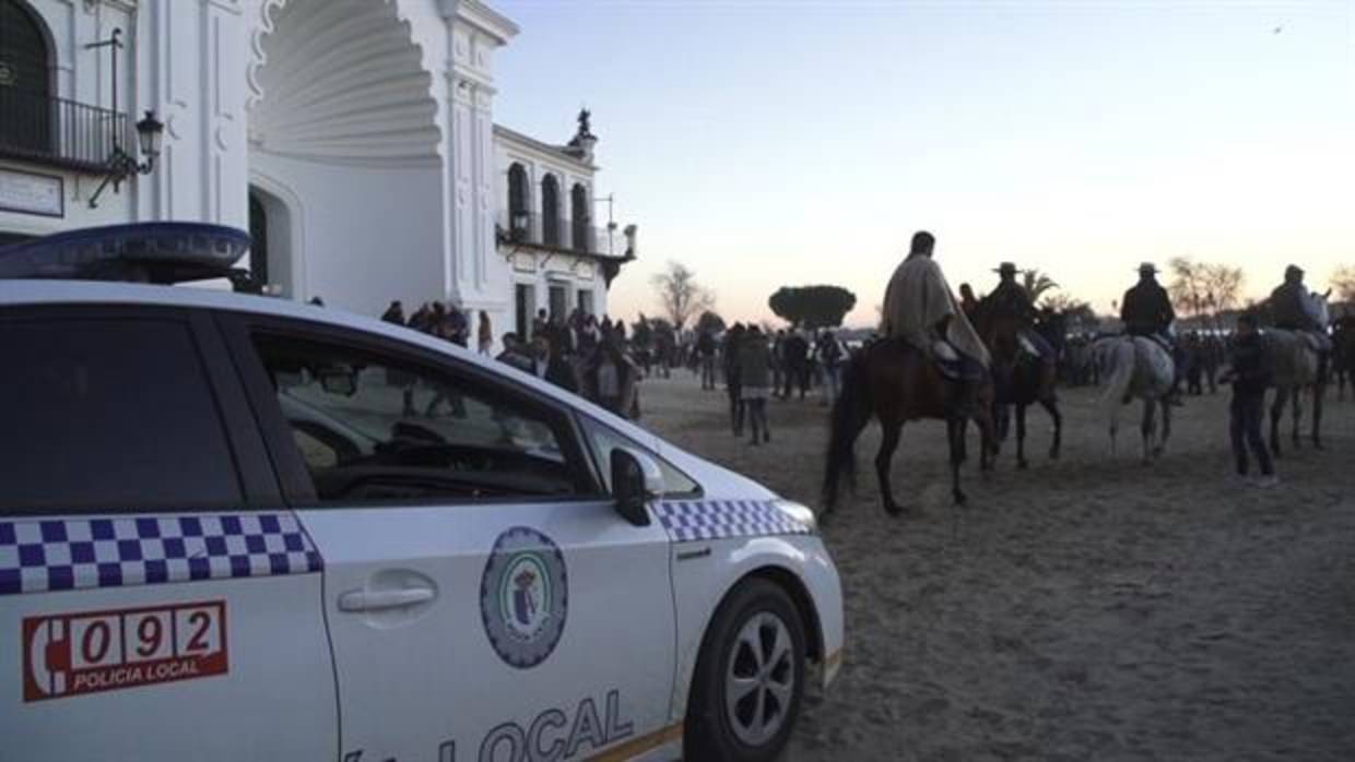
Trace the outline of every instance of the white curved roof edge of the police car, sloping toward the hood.
{"label": "white curved roof edge of the police car, sloping toward the hood", "polygon": [[568,405],[575,410],[584,411],[588,416],[606,422],[608,426],[617,429],[637,443],[652,448],[660,456],[672,460],[673,464],[682,470],[701,471],[706,478],[718,478],[725,490],[749,494],[749,497],[755,494],[771,495],[764,486],[748,479],[747,476],[741,476],[686,452],[682,448],[664,441],[652,432],[648,432],[573,393],[565,391],[550,382],[539,379],[531,374],[524,374],[489,356],[470,352],[469,349],[443,338],[436,338],[411,328],[388,323],[373,317],[347,313],[336,307],[304,305],[290,299],[279,299],[276,296],[237,294],[226,291],[225,288],[211,288],[203,286],[148,286],[141,283],[93,280],[0,279],[0,307],[41,305],[141,305],[179,307],[186,310],[248,313],[347,328],[371,336],[382,336],[404,344],[413,344],[423,346],[424,349],[450,355],[462,363],[476,365],[491,374],[497,374],[505,380],[516,382],[562,405]]}

